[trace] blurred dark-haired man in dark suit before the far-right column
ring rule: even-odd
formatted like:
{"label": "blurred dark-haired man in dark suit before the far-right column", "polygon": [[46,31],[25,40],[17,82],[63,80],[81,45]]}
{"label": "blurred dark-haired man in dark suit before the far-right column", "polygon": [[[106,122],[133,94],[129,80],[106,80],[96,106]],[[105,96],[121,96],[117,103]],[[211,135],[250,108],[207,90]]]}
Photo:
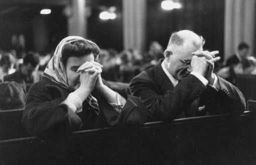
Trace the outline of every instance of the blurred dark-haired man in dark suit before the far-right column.
{"label": "blurred dark-haired man in dark suit before the far-right column", "polygon": [[237,51],[234,54],[232,54],[230,58],[227,59],[226,66],[242,63],[244,67],[248,67],[249,66],[249,61],[247,60],[248,52],[249,52],[249,45],[245,42],[241,42],[237,47]]}

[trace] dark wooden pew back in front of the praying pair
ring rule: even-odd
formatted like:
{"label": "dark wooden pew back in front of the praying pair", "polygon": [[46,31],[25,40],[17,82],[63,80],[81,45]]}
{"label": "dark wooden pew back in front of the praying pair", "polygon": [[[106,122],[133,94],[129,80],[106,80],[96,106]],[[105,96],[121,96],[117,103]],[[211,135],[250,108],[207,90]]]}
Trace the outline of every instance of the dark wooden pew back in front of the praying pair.
{"label": "dark wooden pew back in front of the praying pair", "polygon": [[0,141],[2,164],[253,164],[256,111]]}

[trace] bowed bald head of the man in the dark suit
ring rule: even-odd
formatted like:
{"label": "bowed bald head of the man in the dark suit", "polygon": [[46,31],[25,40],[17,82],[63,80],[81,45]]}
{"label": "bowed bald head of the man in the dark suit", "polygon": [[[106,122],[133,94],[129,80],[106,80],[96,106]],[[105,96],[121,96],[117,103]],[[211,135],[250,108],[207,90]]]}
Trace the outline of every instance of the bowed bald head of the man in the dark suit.
{"label": "bowed bald head of the man in the dark suit", "polygon": [[176,79],[181,80],[190,73],[192,52],[203,50],[204,39],[190,30],[171,34],[164,51],[165,68]]}

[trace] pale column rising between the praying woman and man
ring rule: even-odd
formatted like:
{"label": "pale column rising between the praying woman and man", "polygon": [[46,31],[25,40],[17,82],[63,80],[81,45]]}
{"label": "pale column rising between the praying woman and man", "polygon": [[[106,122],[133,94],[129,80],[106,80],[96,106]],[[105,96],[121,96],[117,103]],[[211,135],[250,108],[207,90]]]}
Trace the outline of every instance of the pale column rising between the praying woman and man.
{"label": "pale column rising between the praying woman and man", "polygon": [[146,49],[146,0],[123,0],[124,48]]}

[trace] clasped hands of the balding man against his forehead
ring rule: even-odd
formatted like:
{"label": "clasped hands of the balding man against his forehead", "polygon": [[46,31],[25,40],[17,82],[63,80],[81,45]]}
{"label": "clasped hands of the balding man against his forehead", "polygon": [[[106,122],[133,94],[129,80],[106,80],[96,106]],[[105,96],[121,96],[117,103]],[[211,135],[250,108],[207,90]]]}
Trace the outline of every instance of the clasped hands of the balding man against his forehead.
{"label": "clasped hands of the balding man against his forehead", "polygon": [[[197,56],[197,57],[201,57],[204,59],[204,61],[202,62],[204,65],[202,65],[203,69],[206,69],[204,70],[205,74],[201,74],[203,75],[208,81],[209,81],[209,84],[213,84],[214,82],[214,75],[213,75],[213,69],[214,69],[214,62],[218,61],[220,59],[220,57],[215,57],[216,54],[218,54],[218,51],[195,51],[195,52],[192,52],[192,54],[194,56]],[[192,57],[192,61],[193,61],[193,58],[194,56]],[[192,61],[191,61],[191,67],[192,67]],[[205,63],[207,64],[207,67],[205,68]],[[198,66],[200,67],[200,66]],[[193,67],[192,67],[193,68]]]}

